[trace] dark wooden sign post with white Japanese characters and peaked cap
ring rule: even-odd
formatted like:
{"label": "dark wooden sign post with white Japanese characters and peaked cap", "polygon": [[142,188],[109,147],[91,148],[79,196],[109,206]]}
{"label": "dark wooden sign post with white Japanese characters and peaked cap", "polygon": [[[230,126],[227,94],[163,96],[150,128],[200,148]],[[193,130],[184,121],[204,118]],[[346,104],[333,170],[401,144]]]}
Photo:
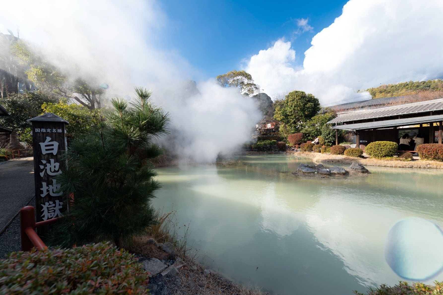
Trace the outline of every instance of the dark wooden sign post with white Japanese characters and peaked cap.
{"label": "dark wooden sign post with white Japanese characters and peaked cap", "polygon": [[[62,199],[60,184],[53,179],[62,173],[65,161],[60,156],[67,149],[66,124],[53,113],[29,119],[32,123],[34,147],[35,215],[37,222],[62,216],[68,202]],[[40,236],[47,234],[49,226],[37,228]]]}

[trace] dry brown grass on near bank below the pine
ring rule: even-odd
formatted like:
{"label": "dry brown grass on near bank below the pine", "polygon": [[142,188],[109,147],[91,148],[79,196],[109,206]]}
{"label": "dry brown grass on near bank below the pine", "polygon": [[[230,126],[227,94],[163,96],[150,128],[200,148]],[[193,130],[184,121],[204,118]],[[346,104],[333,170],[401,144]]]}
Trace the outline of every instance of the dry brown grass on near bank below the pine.
{"label": "dry brown grass on near bank below the pine", "polygon": [[[196,257],[196,249],[190,249],[187,245],[189,235],[189,225],[181,225],[176,221],[175,211],[163,213],[157,211],[158,224],[149,229],[148,234],[143,237],[132,239],[130,245],[124,248],[132,253],[143,257],[155,257],[159,260],[167,260],[168,253],[158,249],[155,245],[148,245],[149,238],[154,238],[158,243],[167,241],[173,243],[180,258],[185,262],[185,266],[179,269],[179,273],[171,277],[161,277],[161,283],[167,286],[167,294],[175,295],[200,295],[200,294],[238,294],[238,295],[263,295],[257,288],[250,288],[240,284],[235,284],[217,272],[211,271],[206,274],[206,269],[199,264]],[[184,227],[184,229],[183,229]],[[178,232],[184,232],[184,236],[179,236]],[[191,250],[191,251],[190,251]],[[193,255],[190,255],[193,253]],[[179,281],[179,283],[177,283]],[[155,284],[158,284],[156,281]],[[159,291],[154,294],[163,294]]]}

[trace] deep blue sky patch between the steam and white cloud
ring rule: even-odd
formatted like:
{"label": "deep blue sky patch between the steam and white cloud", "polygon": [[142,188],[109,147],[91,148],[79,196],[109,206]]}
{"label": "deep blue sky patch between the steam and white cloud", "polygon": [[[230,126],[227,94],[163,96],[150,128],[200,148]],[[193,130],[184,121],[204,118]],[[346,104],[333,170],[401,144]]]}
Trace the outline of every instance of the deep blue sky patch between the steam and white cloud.
{"label": "deep blue sky patch between the steam and white cloud", "polygon": [[[168,18],[163,46],[177,50],[206,78],[239,69],[242,59],[279,38],[292,41],[301,65],[312,37],[341,15],[346,2],[166,0],[160,4]],[[308,19],[313,29],[294,40],[297,19]]]}

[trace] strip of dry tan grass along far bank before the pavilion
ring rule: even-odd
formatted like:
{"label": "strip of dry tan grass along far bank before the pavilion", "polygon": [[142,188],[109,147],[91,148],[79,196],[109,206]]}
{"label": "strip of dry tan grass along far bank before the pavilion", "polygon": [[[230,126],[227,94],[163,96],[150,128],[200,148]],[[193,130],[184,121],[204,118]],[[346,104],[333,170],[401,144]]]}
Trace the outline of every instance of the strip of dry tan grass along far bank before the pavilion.
{"label": "strip of dry tan grass along far bank before the pavilion", "polygon": [[352,162],[360,163],[368,166],[382,166],[382,167],[398,167],[398,168],[427,168],[427,169],[443,169],[443,162],[438,161],[395,161],[383,160],[375,158],[354,158],[343,155],[327,155],[321,153],[301,153],[299,155],[311,158],[315,162],[337,163],[337,164],[352,164]]}

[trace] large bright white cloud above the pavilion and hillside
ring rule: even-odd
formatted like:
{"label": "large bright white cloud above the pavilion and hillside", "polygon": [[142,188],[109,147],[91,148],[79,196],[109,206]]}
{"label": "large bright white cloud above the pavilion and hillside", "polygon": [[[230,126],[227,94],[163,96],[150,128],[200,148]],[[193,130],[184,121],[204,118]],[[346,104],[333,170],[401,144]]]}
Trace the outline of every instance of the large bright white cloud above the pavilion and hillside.
{"label": "large bright white cloud above the pavilion and hillside", "polygon": [[435,30],[442,14],[441,0],[350,0],[312,38],[303,67],[294,64],[291,42],[280,39],[245,70],[269,95],[303,90],[323,104],[364,96],[357,91],[380,84],[441,77],[443,36]]}

